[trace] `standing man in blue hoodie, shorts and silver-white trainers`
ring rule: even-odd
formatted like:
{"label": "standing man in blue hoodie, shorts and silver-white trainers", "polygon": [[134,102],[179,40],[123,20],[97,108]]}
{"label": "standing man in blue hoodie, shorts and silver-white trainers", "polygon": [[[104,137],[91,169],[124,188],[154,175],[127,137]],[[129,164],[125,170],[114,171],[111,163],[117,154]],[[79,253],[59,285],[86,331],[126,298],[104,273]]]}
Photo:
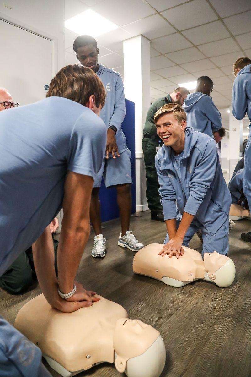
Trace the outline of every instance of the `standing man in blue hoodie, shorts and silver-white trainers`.
{"label": "standing man in blue hoodie, shorts and silver-white trainers", "polygon": [[98,63],[97,41],[90,35],[80,35],[76,38],[73,43],[73,50],[83,66],[96,72],[106,89],[105,106],[100,112],[100,118],[107,127],[107,143],[103,164],[94,181],[91,195],[90,219],[96,234],[91,255],[93,257],[104,257],[106,252],[106,239],[103,237],[101,229],[99,201],[102,176],[106,188],[115,186],[117,190],[117,203],[122,228],[118,244],[127,247],[129,250],[138,251],[144,245],[138,242],[132,231],[129,230],[132,184],[131,152],[126,146],[125,135],[121,129],[121,124],[125,118],[123,81],[118,72]]}

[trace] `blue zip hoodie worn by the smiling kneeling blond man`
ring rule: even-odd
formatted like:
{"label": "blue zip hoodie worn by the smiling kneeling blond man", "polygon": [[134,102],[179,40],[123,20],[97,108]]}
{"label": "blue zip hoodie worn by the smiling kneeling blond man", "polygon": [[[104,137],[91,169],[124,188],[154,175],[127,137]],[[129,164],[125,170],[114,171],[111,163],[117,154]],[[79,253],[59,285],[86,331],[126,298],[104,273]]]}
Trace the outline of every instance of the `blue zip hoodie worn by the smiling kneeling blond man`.
{"label": "blue zip hoodie worn by the smiling kneeling blond man", "polygon": [[215,141],[186,127],[177,170],[173,150],[163,145],[155,156],[164,219],[176,219],[176,205],[215,234],[229,216],[231,195],[223,178]]}

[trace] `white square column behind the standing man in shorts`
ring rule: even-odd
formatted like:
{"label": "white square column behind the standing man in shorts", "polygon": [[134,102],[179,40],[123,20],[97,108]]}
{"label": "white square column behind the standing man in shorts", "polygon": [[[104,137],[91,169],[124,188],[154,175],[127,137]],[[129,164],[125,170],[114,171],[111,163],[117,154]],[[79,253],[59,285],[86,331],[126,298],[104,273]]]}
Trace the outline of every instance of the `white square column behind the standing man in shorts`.
{"label": "white square column behind the standing man in shorts", "polygon": [[150,102],[150,41],[138,35],[123,42],[125,97],[135,103],[136,211],[148,210],[142,131]]}

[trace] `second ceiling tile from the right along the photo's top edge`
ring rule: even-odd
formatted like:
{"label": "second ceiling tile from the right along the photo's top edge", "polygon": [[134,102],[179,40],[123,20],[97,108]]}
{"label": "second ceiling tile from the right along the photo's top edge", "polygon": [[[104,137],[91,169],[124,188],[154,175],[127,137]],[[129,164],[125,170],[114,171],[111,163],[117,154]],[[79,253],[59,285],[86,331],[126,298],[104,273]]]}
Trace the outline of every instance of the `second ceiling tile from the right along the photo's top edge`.
{"label": "second ceiling tile from the right along the photo's top edge", "polygon": [[184,30],[218,19],[206,0],[193,0],[161,14],[179,30],[181,27]]}

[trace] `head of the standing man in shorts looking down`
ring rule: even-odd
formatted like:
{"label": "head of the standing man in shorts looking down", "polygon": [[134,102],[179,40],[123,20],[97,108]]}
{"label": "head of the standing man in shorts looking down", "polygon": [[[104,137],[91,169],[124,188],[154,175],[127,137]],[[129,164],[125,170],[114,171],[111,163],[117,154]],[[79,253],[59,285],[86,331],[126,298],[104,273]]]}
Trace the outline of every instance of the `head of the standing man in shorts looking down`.
{"label": "head of the standing man in shorts looking down", "polygon": [[91,68],[94,72],[99,69],[97,41],[91,35],[79,35],[73,43],[73,50],[82,66]]}

